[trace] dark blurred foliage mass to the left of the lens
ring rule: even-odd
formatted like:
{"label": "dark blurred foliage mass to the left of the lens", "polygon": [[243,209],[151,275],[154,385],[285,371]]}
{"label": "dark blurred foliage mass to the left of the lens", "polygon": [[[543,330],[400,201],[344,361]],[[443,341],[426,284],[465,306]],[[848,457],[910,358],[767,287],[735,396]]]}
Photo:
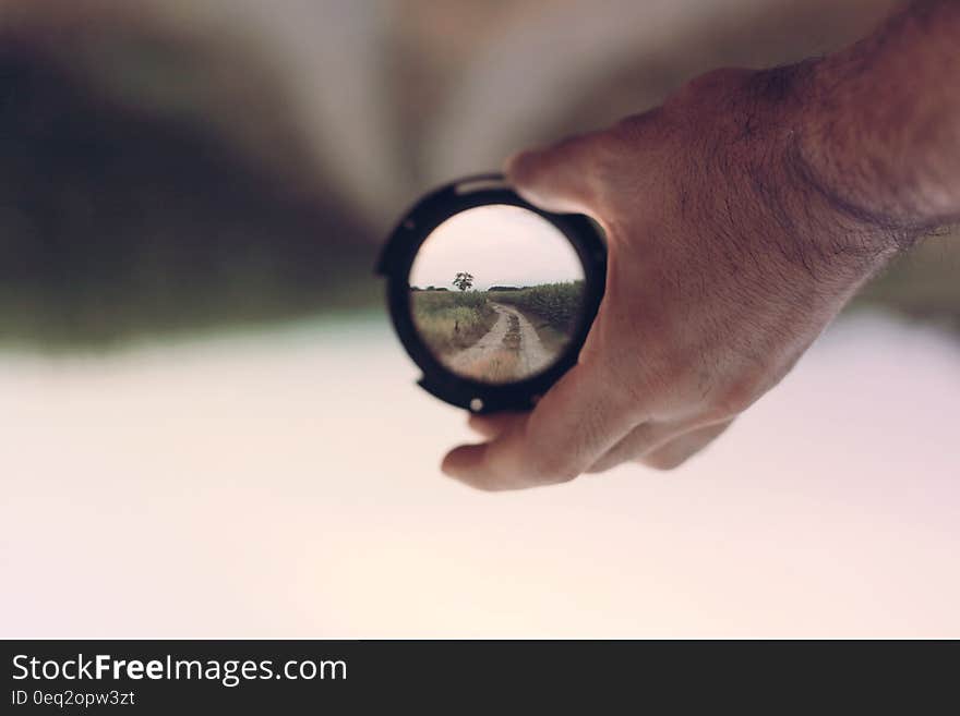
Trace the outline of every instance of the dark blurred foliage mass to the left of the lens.
{"label": "dark blurred foliage mass to the left of the lens", "polygon": [[0,341],[142,333],[369,306],[374,242],[182,118],[118,107],[0,47]]}

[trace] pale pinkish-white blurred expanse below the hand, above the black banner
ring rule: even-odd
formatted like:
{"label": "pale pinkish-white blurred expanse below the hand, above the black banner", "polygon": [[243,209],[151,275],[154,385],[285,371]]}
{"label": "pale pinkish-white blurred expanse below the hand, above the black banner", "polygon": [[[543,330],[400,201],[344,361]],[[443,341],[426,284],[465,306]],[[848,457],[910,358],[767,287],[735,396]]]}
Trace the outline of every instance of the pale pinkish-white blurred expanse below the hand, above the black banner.
{"label": "pale pinkish-white blurred expanse below the hand, above the black banner", "polygon": [[960,636],[960,345],[839,324],[704,457],[475,493],[379,320],[0,357],[3,636]]}

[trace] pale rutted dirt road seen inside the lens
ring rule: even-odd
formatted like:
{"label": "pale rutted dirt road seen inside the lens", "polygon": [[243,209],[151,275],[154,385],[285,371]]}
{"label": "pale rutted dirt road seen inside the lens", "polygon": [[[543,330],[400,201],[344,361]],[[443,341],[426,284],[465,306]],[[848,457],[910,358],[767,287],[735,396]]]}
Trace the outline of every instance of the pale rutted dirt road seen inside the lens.
{"label": "pale rutted dirt road seen inside the lens", "polygon": [[447,366],[459,375],[485,383],[509,383],[545,368],[555,354],[543,347],[530,320],[513,306],[490,302],[497,313],[490,331],[470,348],[453,355]]}

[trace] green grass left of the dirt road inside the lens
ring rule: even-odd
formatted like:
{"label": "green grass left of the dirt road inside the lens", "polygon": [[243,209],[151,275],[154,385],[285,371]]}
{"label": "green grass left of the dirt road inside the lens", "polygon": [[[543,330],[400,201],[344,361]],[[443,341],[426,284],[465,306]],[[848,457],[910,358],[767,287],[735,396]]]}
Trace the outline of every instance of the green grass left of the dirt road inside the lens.
{"label": "green grass left of the dirt road inside the lens", "polygon": [[496,321],[496,312],[478,291],[410,291],[410,311],[420,336],[436,355],[476,343]]}

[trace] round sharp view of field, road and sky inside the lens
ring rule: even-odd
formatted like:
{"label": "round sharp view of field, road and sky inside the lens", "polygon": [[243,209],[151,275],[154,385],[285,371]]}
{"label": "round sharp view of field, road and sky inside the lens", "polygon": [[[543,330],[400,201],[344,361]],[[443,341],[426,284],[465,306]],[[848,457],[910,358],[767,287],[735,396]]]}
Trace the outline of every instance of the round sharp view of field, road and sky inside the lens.
{"label": "round sharp view of field, road and sky inside the lens", "polygon": [[584,302],[574,247],[543,217],[516,206],[468,209],[440,224],[410,270],[413,324],[459,376],[506,384],[550,367]]}

